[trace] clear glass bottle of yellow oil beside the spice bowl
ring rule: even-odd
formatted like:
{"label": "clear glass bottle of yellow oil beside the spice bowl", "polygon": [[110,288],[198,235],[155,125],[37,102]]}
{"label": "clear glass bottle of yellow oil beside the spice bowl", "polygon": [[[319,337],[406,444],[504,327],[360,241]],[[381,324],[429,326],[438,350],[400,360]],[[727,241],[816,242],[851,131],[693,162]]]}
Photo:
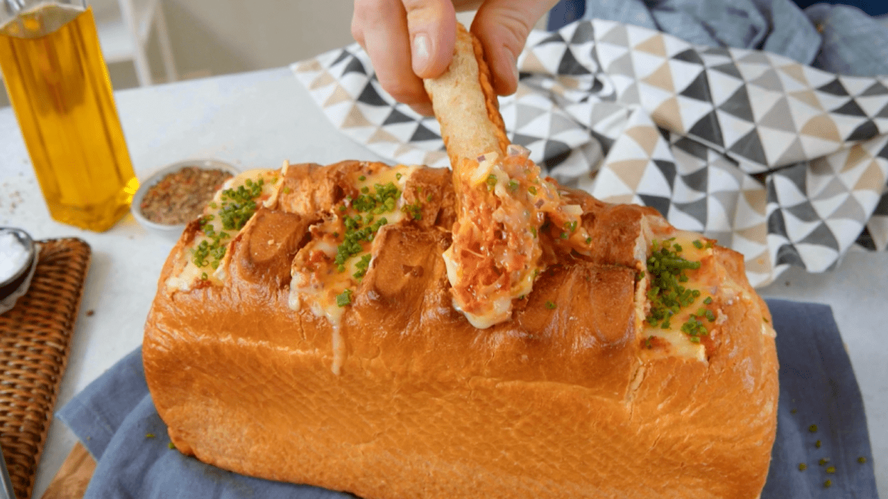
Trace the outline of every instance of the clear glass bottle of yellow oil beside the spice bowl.
{"label": "clear glass bottle of yellow oil beside the spice bowl", "polygon": [[52,218],[105,231],[139,180],[91,8],[40,4],[0,27],[0,68]]}

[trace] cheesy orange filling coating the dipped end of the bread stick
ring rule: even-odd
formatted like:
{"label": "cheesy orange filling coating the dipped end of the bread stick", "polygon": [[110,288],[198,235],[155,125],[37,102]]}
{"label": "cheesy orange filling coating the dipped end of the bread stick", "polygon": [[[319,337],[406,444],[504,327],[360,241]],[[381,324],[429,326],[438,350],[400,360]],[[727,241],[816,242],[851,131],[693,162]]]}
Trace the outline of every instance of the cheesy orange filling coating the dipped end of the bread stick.
{"label": "cheesy orange filling coating the dipped end of the bread stick", "polygon": [[589,252],[583,209],[561,198],[529,154],[513,144],[454,173],[458,218],[443,256],[453,305],[479,329],[511,319],[512,300],[533,289],[545,270],[541,241]]}

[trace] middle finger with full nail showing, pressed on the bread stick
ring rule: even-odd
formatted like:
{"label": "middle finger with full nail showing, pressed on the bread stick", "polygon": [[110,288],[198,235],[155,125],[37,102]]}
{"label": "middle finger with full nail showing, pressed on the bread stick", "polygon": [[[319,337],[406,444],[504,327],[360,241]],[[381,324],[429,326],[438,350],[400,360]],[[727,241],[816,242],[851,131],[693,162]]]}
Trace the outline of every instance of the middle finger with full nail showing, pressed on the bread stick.
{"label": "middle finger with full nail showing, pressed on the bread stick", "polygon": [[407,11],[410,63],[420,78],[440,76],[453,59],[456,12],[450,0],[402,0]]}

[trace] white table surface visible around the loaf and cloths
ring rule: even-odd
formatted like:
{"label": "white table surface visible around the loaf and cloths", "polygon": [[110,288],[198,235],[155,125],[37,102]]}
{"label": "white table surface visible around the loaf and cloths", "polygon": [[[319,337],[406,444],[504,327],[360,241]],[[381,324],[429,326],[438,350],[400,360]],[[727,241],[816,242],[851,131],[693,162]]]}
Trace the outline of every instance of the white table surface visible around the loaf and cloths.
{"label": "white table surface visible around the loaf and cloths", "polygon": [[[116,99],[139,178],[193,158],[242,170],[277,168],[285,159],[379,160],[340,134],[285,67],[119,91]],[[104,234],[52,220],[9,107],[0,109],[0,226],[22,227],[36,239],[80,237],[92,248],[60,408],[141,343],[172,242],[147,233],[131,216]],[[888,253],[850,253],[831,273],[792,269],[761,291],[832,306],[863,393],[879,494],[888,498]],[[34,497],[43,495],[74,443],[64,424],[52,424]]]}

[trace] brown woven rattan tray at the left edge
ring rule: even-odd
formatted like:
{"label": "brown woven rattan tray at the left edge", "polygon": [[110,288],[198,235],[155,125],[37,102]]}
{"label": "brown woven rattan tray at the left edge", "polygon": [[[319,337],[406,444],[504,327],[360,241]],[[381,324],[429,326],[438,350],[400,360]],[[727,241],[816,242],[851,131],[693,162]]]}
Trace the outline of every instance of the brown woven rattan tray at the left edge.
{"label": "brown woven rattan tray at the left edge", "polygon": [[0,446],[19,499],[34,488],[91,260],[80,239],[38,243],[28,293],[0,314]]}

